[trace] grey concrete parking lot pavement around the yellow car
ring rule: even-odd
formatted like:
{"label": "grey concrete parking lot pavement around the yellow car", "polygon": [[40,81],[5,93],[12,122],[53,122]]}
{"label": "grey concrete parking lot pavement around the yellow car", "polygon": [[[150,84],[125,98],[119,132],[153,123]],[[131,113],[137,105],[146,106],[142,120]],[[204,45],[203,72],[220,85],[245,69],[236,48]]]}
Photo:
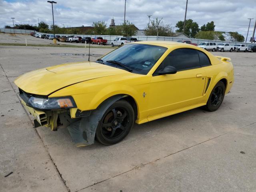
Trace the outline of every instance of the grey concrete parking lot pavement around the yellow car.
{"label": "grey concrete parking lot pavement around the yellow car", "polygon": [[[91,49],[91,60],[111,50]],[[82,148],[67,129],[33,128],[13,83],[31,70],[88,60],[73,53],[88,48],[0,46],[0,191],[256,192],[255,53],[212,52],[235,69],[216,112],[135,124],[118,144]]]}

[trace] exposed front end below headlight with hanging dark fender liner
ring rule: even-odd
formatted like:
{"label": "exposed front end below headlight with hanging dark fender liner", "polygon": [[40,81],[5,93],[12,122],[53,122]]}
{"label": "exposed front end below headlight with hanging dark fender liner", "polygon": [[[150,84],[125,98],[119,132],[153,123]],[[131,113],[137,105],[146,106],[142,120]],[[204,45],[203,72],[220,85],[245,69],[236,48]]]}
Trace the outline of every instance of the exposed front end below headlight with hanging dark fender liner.
{"label": "exposed front end below headlight with hanging dark fender liner", "polygon": [[68,128],[76,146],[86,146],[94,143],[98,123],[106,110],[123,95],[113,96],[102,102],[98,108],[90,111],[81,111],[78,108],[38,110],[27,105],[21,97],[21,103],[34,116],[34,126],[46,126],[52,131],[59,127]]}

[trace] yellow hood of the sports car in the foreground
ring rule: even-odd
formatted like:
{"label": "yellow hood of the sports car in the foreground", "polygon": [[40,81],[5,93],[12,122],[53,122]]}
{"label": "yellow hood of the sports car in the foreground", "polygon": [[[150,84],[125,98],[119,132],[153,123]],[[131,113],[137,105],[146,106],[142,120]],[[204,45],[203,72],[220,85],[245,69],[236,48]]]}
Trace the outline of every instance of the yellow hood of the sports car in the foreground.
{"label": "yellow hood of the sports car in the foreground", "polygon": [[129,72],[96,62],[68,63],[28,72],[14,83],[27,93],[50,95],[72,84],[122,73]]}

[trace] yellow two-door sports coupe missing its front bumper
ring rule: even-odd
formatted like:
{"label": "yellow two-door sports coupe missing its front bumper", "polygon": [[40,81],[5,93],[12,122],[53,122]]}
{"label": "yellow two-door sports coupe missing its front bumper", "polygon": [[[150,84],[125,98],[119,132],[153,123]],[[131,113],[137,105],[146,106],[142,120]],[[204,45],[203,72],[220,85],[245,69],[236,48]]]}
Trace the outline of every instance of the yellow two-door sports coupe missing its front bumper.
{"label": "yellow two-door sports coupe missing its front bumper", "polygon": [[77,146],[120,142],[134,122],[204,106],[215,111],[234,82],[230,58],[166,41],[126,44],[96,62],[61,64],[15,80],[35,126],[67,127]]}

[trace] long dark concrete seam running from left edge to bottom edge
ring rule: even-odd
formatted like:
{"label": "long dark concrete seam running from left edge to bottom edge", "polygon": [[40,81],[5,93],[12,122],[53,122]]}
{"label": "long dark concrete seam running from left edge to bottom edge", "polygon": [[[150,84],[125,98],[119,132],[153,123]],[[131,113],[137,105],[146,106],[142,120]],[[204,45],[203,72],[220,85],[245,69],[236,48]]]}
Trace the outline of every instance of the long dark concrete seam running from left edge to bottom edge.
{"label": "long dark concrete seam running from left edge to bottom edge", "polygon": [[[6,72],[4,71],[4,68],[3,68],[2,64],[0,64],[0,66],[1,66],[1,68],[2,68],[2,70],[3,70],[3,72],[4,72],[4,74],[5,74],[6,78],[8,79],[8,82],[10,83],[10,86],[12,87],[12,90],[15,92],[14,87],[12,86],[12,84],[11,84],[11,82],[10,82],[8,76],[6,75]],[[15,92],[15,93],[16,93],[16,92]],[[18,97],[18,95],[17,95],[17,94],[15,94],[15,95],[17,96],[18,100],[20,101],[20,98]],[[30,119],[30,117],[29,117],[29,115],[28,115],[26,109],[24,108],[24,106],[21,104],[21,102],[19,102],[19,103],[20,103],[20,105],[22,106],[23,110],[25,111],[25,114],[27,114],[28,118]],[[31,121],[30,121],[29,123],[32,124]],[[62,178],[62,174],[60,174],[60,171],[58,170],[57,165],[55,164],[55,162],[54,162],[52,156],[50,155],[49,151],[47,150],[47,148],[46,148],[46,146],[45,146],[45,144],[44,144],[44,141],[43,141],[42,137],[39,135],[39,133],[38,133],[38,131],[37,131],[36,129],[34,129],[34,130],[36,131],[36,134],[38,135],[39,139],[42,141],[42,144],[43,144],[43,146],[44,146],[44,149],[46,150],[46,152],[47,152],[47,154],[48,154],[50,160],[52,161],[52,164],[53,164],[54,167],[56,168],[56,171],[58,172],[58,174],[59,174],[59,176],[60,176],[60,179],[62,180],[64,186],[66,187],[67,191],[70,192],[69,187],[66,185],[66,180],[64,180],[64,179]]]}

